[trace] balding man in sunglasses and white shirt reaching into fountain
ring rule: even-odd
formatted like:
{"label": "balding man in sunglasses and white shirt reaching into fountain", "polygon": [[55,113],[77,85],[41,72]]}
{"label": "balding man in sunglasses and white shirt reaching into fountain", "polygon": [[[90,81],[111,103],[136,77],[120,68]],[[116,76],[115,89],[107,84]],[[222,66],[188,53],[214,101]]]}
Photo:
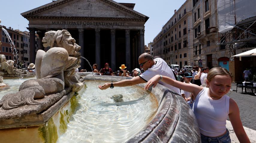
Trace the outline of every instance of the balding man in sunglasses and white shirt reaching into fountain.
{"label": "balding man in sunglasses and white shirt reaching into fountain", "polygon": [[[109,87],[114,88],[115,86],[124,87],[124,86],[132,86],[139,83],[146,83],[148,80],[150,80],[152,77],[154,77],[157,74],[168,76],[176,80],[174,77],[175,76],[174,72],[167,65],[167,63],[160,57],[153,59],[153,57],[150,54],[143,53],[139,56],[138,63],[140,65],[140,68],[143,68],[145,71],[141,75],[129,80],[122,80],[116,83],[105,83],[103,86],[99,86],[99,88],[103,90]],[[159,81],[159,83],[169,88],[171,91],[174,91],[180,95],[179,88],[163,83],[161,81]]]}

